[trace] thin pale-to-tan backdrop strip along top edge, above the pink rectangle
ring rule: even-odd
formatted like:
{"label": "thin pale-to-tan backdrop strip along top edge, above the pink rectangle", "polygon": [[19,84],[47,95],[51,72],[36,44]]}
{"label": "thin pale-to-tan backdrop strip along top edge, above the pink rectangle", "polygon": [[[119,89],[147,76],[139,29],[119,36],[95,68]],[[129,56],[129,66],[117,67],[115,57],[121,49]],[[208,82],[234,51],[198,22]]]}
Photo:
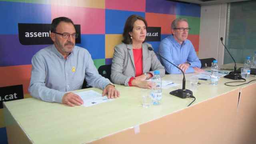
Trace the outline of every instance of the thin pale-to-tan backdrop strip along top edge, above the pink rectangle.
{"label": "thin pale-to-tan backdrop strip along top edge, above the pink rectangle", "polygon": [[52,4],[87,8],[105,8],[105,0],[52,0]]}

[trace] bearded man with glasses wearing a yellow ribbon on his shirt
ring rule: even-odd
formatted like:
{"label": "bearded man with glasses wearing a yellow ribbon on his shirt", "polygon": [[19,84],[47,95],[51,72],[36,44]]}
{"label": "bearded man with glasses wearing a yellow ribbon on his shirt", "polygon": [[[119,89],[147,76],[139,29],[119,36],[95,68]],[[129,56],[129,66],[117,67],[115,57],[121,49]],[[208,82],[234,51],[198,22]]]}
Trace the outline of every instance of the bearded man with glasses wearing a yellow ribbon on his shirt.
{"label": "bearded man with glasses wearing a yellow ribbon on his shirt", "polygon": [[66,17],[52,20],[50,37],[54,44],[38,51],[32,58],[28,90],[33,97],[79,106],[83,100],[69,91],[81,89],[84,78],[90,86],[103,89],[102,96],[119,97],[110,80],[98,73],[89,52],[75,46],[78,34],[72,20]]}

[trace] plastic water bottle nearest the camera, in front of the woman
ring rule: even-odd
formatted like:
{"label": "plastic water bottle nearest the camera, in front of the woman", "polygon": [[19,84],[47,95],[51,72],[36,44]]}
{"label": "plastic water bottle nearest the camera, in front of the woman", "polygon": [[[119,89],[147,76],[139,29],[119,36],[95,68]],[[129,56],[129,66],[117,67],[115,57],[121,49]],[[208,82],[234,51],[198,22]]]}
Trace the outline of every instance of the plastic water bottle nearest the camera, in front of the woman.
{"label": "plastic water bottle nearest the camera, in front of the woman", "polygon": [[154,77],[152,78],[152,102],[153,105],[160,105],[162,100],[162,79],[160,77],[160,71],[154,71]]}

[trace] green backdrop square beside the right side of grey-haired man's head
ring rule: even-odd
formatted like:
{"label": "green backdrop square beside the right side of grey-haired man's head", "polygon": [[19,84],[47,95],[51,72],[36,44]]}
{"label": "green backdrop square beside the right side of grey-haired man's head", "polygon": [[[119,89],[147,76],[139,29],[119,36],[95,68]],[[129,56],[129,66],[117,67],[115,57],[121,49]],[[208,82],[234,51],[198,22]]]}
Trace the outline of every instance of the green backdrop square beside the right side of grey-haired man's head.
{"label": "green backdrop square beside the right side of grey-haired man's head", "polygon": [[191,28],[188,34],[199,35],[200,32],[200,18],[194,16],[178,16],[176,18],[186,18],[188,20],[188,26]]}

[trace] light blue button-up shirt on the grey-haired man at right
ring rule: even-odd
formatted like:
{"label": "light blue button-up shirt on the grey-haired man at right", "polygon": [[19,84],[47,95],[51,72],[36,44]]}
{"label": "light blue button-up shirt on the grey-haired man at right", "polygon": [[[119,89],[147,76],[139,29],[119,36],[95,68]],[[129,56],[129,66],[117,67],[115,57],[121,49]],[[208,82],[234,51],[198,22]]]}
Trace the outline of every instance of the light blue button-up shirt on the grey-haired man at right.
{"label": "light blue button-up shirt on the grey-haired man at right", "polygon": [[[172,35],[170,35],[161,41],[158,52],[161,54],[161,56],[176,64],[176,66],[189,62],[191,65],[188,70],[186,70],[186,73],[194,72],[193,67],[201,68],[201,62],[198,59],[194,46],[190,40],[185,40],[182,44],[180,44]],[[166,60],[160,58],[160,61],[165,67],[166,72],[169,74],[182,73],[178,68]]]}

